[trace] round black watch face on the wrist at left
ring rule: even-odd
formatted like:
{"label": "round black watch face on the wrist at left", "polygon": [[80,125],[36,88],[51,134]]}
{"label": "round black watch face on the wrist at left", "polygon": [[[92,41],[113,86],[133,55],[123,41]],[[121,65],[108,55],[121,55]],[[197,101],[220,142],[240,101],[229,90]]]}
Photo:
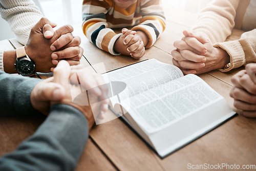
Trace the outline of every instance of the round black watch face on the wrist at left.
{"label": "round black watch face on the wrist at left", "polygon": [[29,60],[20,60],[16,66],[18,73],[24,76],[31,75],[34,72],[34,69],[34,63]]}

